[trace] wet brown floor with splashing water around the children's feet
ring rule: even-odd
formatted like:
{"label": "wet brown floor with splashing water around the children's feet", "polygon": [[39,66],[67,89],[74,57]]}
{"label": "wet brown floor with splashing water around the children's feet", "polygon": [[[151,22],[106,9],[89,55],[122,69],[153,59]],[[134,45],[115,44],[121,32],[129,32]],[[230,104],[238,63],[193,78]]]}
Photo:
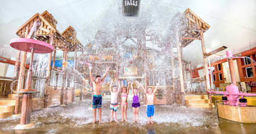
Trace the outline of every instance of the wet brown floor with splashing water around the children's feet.
{"label": "wet brown floor with splashing water around the children's feet", "polygon": [[[131,100],[131,99],[130,99]],[[132,123],[132,101],[128,101],[127,120],[121,122],[121,107],[117,108],[117,120],[110,120],[110,98],[103,97],[102,121],[93,121],[91,100],[75,104],[51,107],[31,113],[34,127],[27,130],[14,130],[20,118],[0,119],[1,133],[256,133],[255,123],[239,123],[217,118],[215,108],[183,108],[177,105],[155,105],[154,124],[147,124],[146,108],[141,103],[140,123]],[[98,113],[97,113],[98,114]],[[97,115],[98,118],[98,115]]]}

